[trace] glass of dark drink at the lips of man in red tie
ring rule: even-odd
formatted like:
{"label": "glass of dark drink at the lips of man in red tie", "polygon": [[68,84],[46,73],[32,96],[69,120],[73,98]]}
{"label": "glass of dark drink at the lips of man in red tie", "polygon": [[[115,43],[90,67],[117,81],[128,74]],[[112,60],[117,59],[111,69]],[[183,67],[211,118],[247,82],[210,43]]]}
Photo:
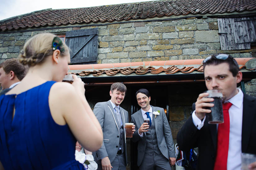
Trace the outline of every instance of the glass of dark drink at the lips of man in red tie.
{"label": "glass of dark drink at the lips of man in red tie", "polygon": [[206,116],[208,118],[209,124],[218,124],[223,123],[223,110],[222,110],[222,93],[220,90],[207,90],[206,93],[209,95],[205,98],[213,98],[214,101],[210,102],[213,103],[213,107],[205,107],[205,109],[211,110],[211,113],[206,113]]}

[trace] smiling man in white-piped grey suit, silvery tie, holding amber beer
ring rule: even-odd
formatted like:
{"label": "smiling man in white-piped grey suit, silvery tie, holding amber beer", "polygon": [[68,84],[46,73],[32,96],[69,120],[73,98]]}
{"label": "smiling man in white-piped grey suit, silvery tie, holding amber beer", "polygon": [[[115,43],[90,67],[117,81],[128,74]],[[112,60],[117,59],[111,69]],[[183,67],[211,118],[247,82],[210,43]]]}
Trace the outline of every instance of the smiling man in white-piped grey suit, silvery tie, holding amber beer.
{"label": "smiling man in white-piped grey suit, silvery tie, holding amber beer", "polygon": [[128,123],[128,112],[119,106],[126,91],[123,83],[112,84],[109,92],[111,99],[98,102],[93,109],[101,124],[104,138],[101,148],[92,154],[98,170],[125,170],[128,164],[124,129],[125,123]]}

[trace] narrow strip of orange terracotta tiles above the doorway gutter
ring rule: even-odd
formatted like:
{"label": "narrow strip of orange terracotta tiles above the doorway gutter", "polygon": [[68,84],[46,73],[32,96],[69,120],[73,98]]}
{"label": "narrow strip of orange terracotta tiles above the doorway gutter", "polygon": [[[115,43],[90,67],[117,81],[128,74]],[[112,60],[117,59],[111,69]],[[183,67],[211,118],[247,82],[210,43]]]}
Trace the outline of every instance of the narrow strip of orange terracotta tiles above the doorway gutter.
{"label": "narrow strip of orange terracotta tiles above the doorway gutter", "polygon": [[[252,58],[237,58],[236,61],[240,65],[240,69],[247,69],[245,63]],[[194,71],[204,72],[204,67],[202,65],[204,59],[189,59],[189,60],[170,60],[170,61],[153,61],[153,62],[133,62],[133,63],[110,63],[110,64],[88,64],[88,65],[70,65],[70,70],[87,70],[87,69],[101,69],[101,68],[112,68],[112,69],[101,69],[93,71],[82,71],[75,73],[79,76],[93,75],[95,77],[106,74],[107,76],[115,76],[118,73],[123,75],[130,75],[135,73],[137,75],[144,75],[146,73],[150,74],[175,74],[177,72],[188,74]],[[182,66],[178,68],[177,66]],[[191,65],[191,66],[190,66]],[[193,66],[192,66],[193,65]],[[130,67],[127,67],[130,66]],[[138,66],[136,68],[131,68],[132,66]],[[161,66],[155,68],[155,66]],[[168,67],[169,66],[169,67]],[[188,66],[188,67],[187,67]],[[195,67],[196,66],[196,67]],[[126,68],[122,68],[126,67]],[[164,68],[165,67],[165,68]]]}

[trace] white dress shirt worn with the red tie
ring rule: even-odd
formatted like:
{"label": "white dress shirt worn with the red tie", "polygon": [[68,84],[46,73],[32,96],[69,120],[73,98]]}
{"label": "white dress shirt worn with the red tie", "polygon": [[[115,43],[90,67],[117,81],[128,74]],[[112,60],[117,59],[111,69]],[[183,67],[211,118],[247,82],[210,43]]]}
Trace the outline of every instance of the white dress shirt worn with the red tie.
{"label": "white dress shirt worn with the red tie", "polygon": [[[242,119],[243,119],[243,98],[244,94],[241,89],[238,94],[227,100],[231,102],[232,106],[229,108],[229,145],[227,156],[227,170],[240,170],[241,169],[241,153],[242,153]],[[204,119],[201,121],[196,115],[195,111],[192,113],[193,123],[197,129],[204,126]],[[218,130],[218,124],[217,129]]]}

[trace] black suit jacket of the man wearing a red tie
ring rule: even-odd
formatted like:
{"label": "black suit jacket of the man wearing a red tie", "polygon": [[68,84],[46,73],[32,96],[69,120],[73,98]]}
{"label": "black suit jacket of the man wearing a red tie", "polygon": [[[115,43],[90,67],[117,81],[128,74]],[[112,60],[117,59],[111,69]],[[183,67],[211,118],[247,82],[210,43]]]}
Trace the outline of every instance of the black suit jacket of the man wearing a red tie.
{"label": "black suit jacket of the man wearing a red tie", "polygon": [[[208,124],[198,130],[192,116],[177,134],[177,144],[181,150],[198,147],[197,169],[213,169],[217,149],[216,124]],[[256,154],[256,98],[244,94],[242,120],[242,152]]]}

